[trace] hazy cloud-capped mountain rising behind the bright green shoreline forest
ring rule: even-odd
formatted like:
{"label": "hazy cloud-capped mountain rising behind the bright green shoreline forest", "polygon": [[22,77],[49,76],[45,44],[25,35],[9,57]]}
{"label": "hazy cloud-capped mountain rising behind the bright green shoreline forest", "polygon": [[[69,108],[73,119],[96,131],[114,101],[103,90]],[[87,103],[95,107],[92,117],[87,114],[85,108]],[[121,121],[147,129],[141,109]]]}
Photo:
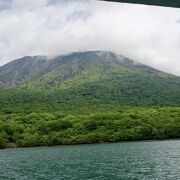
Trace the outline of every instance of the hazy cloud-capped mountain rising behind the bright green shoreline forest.
{"label": "hazy cloud-capped mountain rising behind the bright green shoreline forest", "polygon": [[0,80],[3,88],[51,92],[51,99],[58,102],[180,105],[179,77],[106,51],[75,52],[51,60],[24,57],[2,66]]}

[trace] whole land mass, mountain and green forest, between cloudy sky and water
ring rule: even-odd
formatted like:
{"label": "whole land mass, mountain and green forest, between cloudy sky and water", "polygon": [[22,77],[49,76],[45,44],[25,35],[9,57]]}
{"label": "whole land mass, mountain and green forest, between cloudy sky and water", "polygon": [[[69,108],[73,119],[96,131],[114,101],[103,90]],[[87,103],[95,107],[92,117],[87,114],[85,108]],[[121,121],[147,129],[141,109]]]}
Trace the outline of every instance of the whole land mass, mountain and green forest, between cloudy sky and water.
{"label": "whole land mass, mountain and green forest, between cloudy sky and water", "polygon": [[180,137],[180,77],[112,52],[0,67],[0,147]]}

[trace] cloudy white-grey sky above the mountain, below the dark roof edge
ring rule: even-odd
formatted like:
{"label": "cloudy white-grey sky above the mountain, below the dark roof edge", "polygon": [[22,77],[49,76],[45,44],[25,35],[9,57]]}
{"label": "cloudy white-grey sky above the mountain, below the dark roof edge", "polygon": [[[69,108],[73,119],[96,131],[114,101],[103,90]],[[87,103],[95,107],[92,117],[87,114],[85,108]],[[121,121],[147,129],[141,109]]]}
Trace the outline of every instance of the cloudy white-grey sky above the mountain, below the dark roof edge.
{"label": "cloudy white-grey sky above the mountain, below the dark roof edge", "polygon": [[95,0],[0,0],[0,65],[108,50],[180,75],[180,9]]}

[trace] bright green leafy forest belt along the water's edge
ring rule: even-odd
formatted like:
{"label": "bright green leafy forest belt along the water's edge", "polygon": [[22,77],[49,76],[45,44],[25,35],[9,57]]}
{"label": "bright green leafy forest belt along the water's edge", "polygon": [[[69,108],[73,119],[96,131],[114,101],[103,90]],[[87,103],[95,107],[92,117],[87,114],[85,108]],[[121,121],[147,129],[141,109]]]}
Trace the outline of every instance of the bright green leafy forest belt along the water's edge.
{"label": "bright green leafy forest belt along the water's edge", "polygon": [[132,107],[81,100],[2,102],[0,148],[180,137],[178,107]]}

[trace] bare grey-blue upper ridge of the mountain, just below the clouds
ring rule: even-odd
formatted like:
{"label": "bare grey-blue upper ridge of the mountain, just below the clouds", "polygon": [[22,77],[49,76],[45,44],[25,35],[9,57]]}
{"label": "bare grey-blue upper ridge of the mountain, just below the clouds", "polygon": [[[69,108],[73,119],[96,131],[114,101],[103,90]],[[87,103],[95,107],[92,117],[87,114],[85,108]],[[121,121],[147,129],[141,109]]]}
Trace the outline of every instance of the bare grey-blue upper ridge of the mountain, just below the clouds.
{"label": "bare grey-blue upper ridge of the mountain, just below the clouds", "polygon": [[26,82],[26,80],[38,73],[45,73],[47,71],[55,69],[57,66],[68,62],[78,62],[81,59],[81,63],[84,61],[92,61],[93,58],[101,60],[103,62],[113,61],[120,65],[132,68],[132,65],[144,69],[147,71],[156,71],[155,68],[147,65],[135,62],[121,55],[117,55],[108,51],[85,51],[85,52],[73,52],[67,55],[60,55],[48,60],[46,56],[25,56],[20,59],[11,61],[0,67],[0,87],[11,88],[16,85],[20,85]]}

